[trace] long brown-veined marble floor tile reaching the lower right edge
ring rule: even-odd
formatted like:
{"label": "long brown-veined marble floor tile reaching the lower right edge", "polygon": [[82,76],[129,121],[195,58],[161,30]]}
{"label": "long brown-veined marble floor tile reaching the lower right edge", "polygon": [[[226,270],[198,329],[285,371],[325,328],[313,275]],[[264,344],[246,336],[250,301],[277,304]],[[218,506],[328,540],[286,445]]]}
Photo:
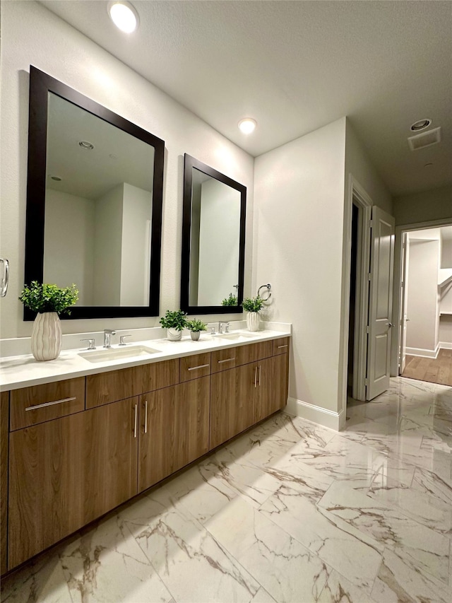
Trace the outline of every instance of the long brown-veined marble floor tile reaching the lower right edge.
{"label": "long brown-veined marble floor tile reaching the lower right edge", "polygon": [[448,582],[450,540],[410,517],[400,509],[335,482],[319,502],[319,508],[340,517],[383,546],[396,549],[400,556],[423,573]]}

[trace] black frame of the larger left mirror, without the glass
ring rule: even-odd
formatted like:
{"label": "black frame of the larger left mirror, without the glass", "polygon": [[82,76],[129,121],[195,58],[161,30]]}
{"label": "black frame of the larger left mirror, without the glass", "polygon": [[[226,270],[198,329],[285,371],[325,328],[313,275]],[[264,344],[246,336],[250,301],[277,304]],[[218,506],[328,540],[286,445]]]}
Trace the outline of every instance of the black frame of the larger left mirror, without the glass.
{"label": "black frame of the larger left mirror, without the glass", "polygon": [[[112,126],[154,147],[152,235],[150,245],[150,294],[148,306],[73,306],[62,319],[158,316],[162,240],[163,161],[165,141],[129,122],[94,100],[30,65],[30,113],[28,122],[28,181],[25,219],[25,283],[42,283],[44,276],[44,219],[47,165],[47,106],[49,93],[77,105]],[[23,320],[36,312],[24,307]]]}

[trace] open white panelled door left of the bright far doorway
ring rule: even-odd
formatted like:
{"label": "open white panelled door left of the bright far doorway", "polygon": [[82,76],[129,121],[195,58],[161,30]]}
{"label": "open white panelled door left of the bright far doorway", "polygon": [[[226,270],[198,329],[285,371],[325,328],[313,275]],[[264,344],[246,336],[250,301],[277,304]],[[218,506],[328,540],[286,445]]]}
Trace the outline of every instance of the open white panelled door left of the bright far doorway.
{"label": "open white panelled door left of the bright far doorway", "polygon": [[367,400],[373,399],[389,387],[393,326],[394,218],[379,207],[373,206],[371,226]]}

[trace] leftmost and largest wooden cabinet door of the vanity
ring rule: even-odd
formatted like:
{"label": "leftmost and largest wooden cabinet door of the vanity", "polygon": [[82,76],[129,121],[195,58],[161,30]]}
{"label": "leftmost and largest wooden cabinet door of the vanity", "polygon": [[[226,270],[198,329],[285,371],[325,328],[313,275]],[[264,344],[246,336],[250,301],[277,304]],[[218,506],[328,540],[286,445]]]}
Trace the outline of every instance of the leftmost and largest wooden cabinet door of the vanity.
{"label": "leftmost and largest wooden cabinet door of the vanity", "polygon": [[8,568],[136,493],[138,398],[10,434]]}

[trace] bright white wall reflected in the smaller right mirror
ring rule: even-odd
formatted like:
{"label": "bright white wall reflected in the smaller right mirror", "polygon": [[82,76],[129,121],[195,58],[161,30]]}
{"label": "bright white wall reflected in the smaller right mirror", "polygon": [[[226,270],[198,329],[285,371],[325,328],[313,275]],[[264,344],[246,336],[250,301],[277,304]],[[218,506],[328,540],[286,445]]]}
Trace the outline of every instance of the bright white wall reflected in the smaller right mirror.
{"label": "bright white wall reflected in the smaller right mirror", "polygon": [[210,178],[201,185],[198,304],[221,305],[238,284],[240,192]]}

